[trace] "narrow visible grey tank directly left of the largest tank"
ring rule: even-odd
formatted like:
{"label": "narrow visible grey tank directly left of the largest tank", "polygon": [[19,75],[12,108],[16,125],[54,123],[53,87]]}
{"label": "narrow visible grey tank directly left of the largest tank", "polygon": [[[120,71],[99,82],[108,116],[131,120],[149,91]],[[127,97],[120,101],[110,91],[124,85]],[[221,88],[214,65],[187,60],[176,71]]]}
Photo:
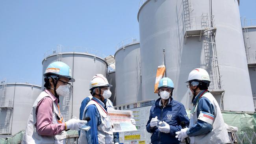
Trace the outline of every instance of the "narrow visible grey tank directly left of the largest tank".
{"label": "narrow visible grey tank directly left of the largest tank", "polygon": [[115,52],[116,104],[142,100],[139,42],[119,47]]}

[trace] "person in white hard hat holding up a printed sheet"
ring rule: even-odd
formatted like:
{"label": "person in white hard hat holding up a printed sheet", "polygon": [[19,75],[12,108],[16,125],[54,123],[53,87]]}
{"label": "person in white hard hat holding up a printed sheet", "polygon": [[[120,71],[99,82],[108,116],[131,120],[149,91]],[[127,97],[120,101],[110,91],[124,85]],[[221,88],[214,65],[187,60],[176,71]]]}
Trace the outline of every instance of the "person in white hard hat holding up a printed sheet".
{"label": "person in white hard hat holding up a printed sheet", "polygon": [[[86,124],[91,126],[88,131],[81,130],[79,144],[114,144],[114,136],[107,111],[107,99],[110,98],[108,80],[102,74],[93,76],[90,91],[93,96],[85,106],[82,118],[89,116],[91,120]],[[135,124],[135,120],[131,120]],[[118,144],[116,142],[115,144]]]}

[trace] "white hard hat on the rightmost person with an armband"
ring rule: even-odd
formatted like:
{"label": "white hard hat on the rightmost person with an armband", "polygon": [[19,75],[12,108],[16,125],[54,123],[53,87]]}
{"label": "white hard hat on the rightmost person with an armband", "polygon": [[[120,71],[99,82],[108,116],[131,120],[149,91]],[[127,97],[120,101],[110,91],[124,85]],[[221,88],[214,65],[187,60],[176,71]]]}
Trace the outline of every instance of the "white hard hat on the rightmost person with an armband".
{"label": "white hard hat on the rightmost person with an armband", "polygon": [[188,83],[189,81],[193,81],[193,80],[195,80],[195,81],[211,81],[208,72],[202,68],[193,69],[189,73],[186,83]]}

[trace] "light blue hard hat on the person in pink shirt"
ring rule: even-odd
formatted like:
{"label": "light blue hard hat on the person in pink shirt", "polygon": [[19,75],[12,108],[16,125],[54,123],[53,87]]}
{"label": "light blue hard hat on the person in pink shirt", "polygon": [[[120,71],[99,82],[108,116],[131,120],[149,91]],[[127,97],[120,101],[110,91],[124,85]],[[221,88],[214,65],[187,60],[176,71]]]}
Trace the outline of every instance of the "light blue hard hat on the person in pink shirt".
{"label": "light blue hard hat on the person in pink shirt", "polygon": [[69,78],[70,82],[75,81],[75,79],[73,79],[71,76],[70,67],[61,61],[55,61],[47,66],[44,76],[46,77],[52,75]]}

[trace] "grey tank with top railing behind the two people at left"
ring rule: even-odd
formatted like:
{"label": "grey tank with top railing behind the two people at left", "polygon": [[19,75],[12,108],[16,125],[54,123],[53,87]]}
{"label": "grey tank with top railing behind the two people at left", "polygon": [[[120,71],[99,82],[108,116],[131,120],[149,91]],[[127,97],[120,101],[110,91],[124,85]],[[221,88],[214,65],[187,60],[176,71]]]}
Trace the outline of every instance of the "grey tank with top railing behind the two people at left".
{"label": "grey tank with top railing behind the two people at left", "polygon": [[[58,50],[59,48],[61,50]],[[91,95],[89,92],[91,78],[95,74],[103,74],[106,77],[107,64],[102,57],[104,55],[98,51],[66,46],[58,46],[57,50],[53,49],[45,54],[45,59],[42,61],[43,73],[50,63],[61,60],[70,66],[71,76],[76,80],[72,83],[73,91],[70,96],[60,97],[61,113],[66,120],[70,119],[72,115],[79,117],[82,100]],[[44,89],[44,84],[44,77],[42,77],[42,89]]]}

